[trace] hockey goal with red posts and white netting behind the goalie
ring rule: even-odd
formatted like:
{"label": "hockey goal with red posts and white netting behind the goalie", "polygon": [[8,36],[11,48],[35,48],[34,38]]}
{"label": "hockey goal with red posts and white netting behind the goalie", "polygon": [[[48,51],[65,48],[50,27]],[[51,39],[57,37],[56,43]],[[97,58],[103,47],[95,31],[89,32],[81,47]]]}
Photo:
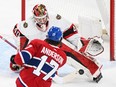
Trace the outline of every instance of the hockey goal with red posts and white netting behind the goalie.
{"label": "hockey goal with red posts and white netting behind the goalie", "polygon": [[[22,18],[25,20],[32,11],[32,7],[36,4],[43,3],[46,5],[49,13],[59,13],[63,17],[69,19],[71,22],[77,23],[79,25],[80,31],[83,35],[87,36],[88,30],[92,30],[88,35],[102,35],[108,34],[109,37],[109,60],[116,60],[116,31],[115,31],[115,2],[116,0],[89,0],[85,3],[85,0],[21,0],[22,1]],[[51,4],[54,3],[54,4]],[[64,5],[65,3],[65,5]],[[31,7],[29,7],[31,6]],[[86,7],[88,6],[88,7]],[[54,7],[54,8],[53,8]],[[87,20],[86,20],[86,16]],[[79,16],[81,16],[79,18]],[[85,17],[85,18],[82,18]],[[80,20],[80,21],[79,21]],[[86,26],[83,26],[85,22]],[[101,24],[102,23],[102,24]],[[88,25],[89,24],[89,25]],[[82,27],[81,27],[82,25]],[[93,26],[92,26],[93,25]],[[102,25],[102,26],[101,26]],[[85,29],[87,28],[87,29]],[[98,29],[98,30],[97,30]],[[84,31],[84,32],[83,32]],[[79,32],[80,33],[80,32]]]}

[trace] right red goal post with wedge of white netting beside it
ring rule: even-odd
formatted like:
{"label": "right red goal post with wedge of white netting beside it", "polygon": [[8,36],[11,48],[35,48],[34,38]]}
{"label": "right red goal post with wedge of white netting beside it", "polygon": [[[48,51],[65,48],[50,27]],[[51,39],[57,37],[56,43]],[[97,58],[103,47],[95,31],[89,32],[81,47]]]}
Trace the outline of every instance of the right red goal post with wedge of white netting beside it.
{"label": "right red goal post with wedge of white netting beside it", "polygon": [[[107,3],[109,5],[107,5]],[[96,0],[107,34],[110,36],[110,61],[115,60],[115,0]]]}

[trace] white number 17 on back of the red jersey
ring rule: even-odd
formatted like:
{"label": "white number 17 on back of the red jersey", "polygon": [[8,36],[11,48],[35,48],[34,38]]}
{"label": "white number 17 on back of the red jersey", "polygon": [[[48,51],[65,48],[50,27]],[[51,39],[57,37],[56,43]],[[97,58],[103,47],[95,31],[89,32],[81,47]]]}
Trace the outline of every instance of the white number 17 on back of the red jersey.
{"label": "white number 17 on back of the red jersey", "polygon": [[[42,60],[39,63],[37,69],[33,71],[34,74],[36,74],[37,76],[40,75],[41,69],[44,66],[44,64],[46,63],[47,58],[48,58],[47,56],[42,56],[41,57]],[[59,66],[58,63],[55,62],[54,60],[51,60],[50,65],[54,66],[54,68],[43,77],[44,80],[49,79],[57,71],[58,66]]]}

